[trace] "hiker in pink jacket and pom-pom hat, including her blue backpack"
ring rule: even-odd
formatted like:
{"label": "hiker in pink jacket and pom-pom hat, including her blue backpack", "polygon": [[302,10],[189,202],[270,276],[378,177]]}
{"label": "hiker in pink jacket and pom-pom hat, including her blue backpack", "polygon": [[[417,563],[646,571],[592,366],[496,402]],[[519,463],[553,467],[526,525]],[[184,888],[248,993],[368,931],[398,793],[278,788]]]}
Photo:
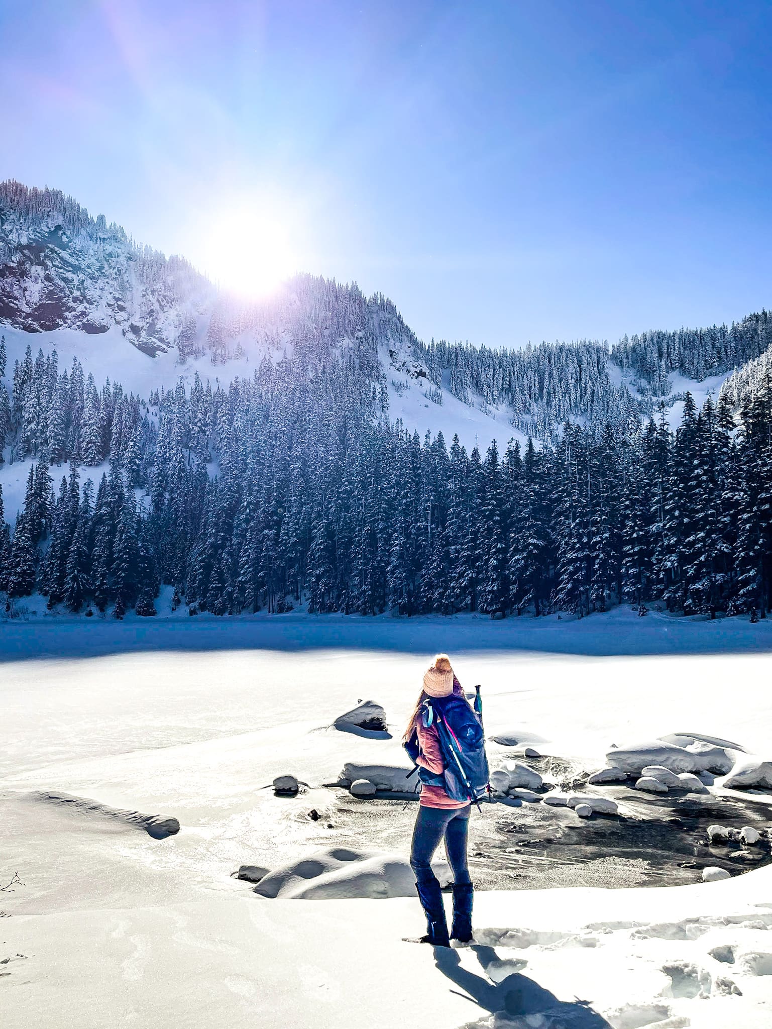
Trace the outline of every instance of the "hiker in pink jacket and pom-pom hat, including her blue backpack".
{"label": "hiker in pink jacket and pom-pom hat, including her blue backpack", "polygon": [[[450,939],[471,939],[473,887],[466,864],[466,838],[472,802],[485,794],[488,762],[482,721],[464,697],[447,653],[426,670],[402,744],[421,781],[410,863],[426,914],[427,933],[420,943],[450,947]],[[440,882],[431,858],[445,838],[453,870],[453,925],[448,935]]]}

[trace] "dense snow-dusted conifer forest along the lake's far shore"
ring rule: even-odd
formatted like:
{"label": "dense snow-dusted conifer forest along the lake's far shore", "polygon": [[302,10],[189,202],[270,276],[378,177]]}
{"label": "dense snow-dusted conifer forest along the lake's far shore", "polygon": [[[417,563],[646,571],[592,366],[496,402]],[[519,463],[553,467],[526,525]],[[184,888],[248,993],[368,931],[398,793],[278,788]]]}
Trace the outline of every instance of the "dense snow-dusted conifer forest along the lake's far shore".
{"label": "dense snow-dusted conifer forest along the lake's far shore", "polygon": [[[766,326],[766,315],[764,316]],[[489,352],[492,353],[492,352]],[[77,360],[0,346],[0,443],[32,458],[0,590],[70,611],[586,614],[620,602],[764,616],[772,602],[772,371],[541,442],[470,453],[388,415],[361,338],[313,340],[223,388],[147,398]],[[441,380],[442,381],[442,380]],[[2,383],[7,383],[8,388]],[[97,488],[83,467],[109,462]],[[0,499],[0,504],[2,503]]]}

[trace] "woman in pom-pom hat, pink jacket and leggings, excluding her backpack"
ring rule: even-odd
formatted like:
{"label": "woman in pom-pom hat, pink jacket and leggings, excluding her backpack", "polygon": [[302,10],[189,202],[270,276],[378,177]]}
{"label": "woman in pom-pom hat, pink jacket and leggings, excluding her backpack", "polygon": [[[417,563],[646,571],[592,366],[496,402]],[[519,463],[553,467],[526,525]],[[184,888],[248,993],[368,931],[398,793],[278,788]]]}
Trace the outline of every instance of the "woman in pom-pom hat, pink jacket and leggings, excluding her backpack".
{"label": "woman in pom-pom hat, pink jacket and leggings, excluding her backpack", "polygon": [[[440,653],[423,677],[423,691],[408,722],[402,742],[419,766],[421,803],[418,808],[410,863],[416,876],[416,890],[426,914],[427,933],[422,944],[450,947],[450,939],[471,939],[472,885],[466,865],[466,837],[471,804],[454,801],[444,786],[445,762],[436,724],[424,724],[423,703],[427,698],[463,699],[463,690],[453,674],[450,658]],[[464,699],[464,704],[466,703]],[[417,754],[416,754],[417,751]],[[445,838],[448,862],[453,870],[453,926],[448,937],[448,923],[440,882],[431,871],[431,858]]]}

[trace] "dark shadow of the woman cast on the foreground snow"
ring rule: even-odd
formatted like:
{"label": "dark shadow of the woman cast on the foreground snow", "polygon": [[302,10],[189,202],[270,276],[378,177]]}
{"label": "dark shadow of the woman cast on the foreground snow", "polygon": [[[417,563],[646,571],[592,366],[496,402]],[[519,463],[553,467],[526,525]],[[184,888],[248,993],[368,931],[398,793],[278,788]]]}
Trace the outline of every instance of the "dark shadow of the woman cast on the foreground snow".
{"label": "dark shadow of the woman cast on the foreground snow", "polygon": [[[498,956],[492,947],[472,946],[478,960],[485,970],[492,962],[498,963]],[[468,996],[481,1007],[492,1015],[506,1015],[515,1022],[523,1018],[523,1025],[541,1024],[528,1019],[527,1016],[542,1016],[545,1029],[554,1024],[564,1025],[566,1029],[611,1029],[606,1020],[598,1015],[586,1000],[574,1000],[572,1003],[558,1000],[538,983],[520,972],[506,975],[500,983],[491,983],[483,975],[467,971],[461,967],[458,953],[447,947],[434,948],[434,961],[444,975],[460,986]],[[549,1020],[549,1021],[548,1021]]]}

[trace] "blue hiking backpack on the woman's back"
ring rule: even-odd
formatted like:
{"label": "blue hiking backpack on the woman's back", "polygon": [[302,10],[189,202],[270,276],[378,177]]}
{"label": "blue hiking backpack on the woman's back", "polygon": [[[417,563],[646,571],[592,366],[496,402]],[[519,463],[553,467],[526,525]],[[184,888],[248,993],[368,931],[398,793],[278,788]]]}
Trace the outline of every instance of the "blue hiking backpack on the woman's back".
{"label": "blue hiking backpack on the woman's back", "polygon": [[[479,698],[478,691],[478,701]],[[481,714],[464,697],[451,694],[427,698],[421,705],[421,717],[426,728],[436,728],[445,769],[435,775],[419,767],[419,779],[427,786],[442,786],[452,801],[477,803],[488,792],[488,757]],[[419,754],[417,733],[413,733],[405,749],[415,762]]]}

